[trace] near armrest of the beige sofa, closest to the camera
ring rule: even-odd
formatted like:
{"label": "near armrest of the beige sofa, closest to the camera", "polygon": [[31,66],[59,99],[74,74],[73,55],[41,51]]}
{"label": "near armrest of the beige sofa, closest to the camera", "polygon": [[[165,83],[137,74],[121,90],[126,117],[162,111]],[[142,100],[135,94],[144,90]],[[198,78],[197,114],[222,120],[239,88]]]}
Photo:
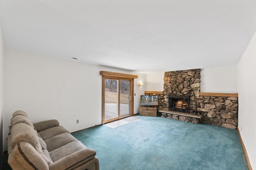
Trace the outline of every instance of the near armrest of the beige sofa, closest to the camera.
{"label": "near armrest of the beige sofa, closest to the camera", "polygon": [[96,151],[90,148],[78,150],[56,162],[49,165],[49,170],[71,170],[93,159],[96,156]]}

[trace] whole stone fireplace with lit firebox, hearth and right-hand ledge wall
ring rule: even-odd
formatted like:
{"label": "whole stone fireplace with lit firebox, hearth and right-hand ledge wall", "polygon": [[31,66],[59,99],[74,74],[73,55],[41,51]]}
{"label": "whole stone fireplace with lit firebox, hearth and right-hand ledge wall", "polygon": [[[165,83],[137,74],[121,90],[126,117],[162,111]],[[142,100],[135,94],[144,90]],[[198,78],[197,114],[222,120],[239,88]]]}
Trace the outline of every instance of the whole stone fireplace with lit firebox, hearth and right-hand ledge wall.
{"label": "whole stone fireplace with lit firebox, hearth and right-hand ledge wall", "polygon": [[200,72],[201,69],[165,72],[158,111],[168,119],[236,129],[238,94],[200,92]]}

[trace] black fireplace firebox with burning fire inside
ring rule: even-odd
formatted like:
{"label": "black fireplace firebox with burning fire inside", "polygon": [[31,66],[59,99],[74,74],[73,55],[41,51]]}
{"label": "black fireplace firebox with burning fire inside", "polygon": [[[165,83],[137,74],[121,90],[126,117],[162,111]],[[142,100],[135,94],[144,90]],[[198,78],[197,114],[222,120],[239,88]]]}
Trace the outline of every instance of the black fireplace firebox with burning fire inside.
{"label": "black fireplace firebox with burning fire inside", "polygon": [[168,110],[189,113],[190,96],[168,96]]}

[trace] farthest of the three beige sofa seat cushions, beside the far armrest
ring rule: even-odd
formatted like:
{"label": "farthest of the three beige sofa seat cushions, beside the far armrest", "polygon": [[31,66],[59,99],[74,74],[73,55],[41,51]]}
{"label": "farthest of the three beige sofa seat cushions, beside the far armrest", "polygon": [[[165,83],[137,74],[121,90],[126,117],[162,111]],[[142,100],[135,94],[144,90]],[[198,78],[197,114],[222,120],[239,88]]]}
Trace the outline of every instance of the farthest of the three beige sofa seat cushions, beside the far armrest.
{"label": "farthest of the three beige sofa seat cushions, beside the far armrest", "polygon": [[45,129],[45,130],[40,131],[38,133],[42,137],[43,140],[46,140],[46,139],[49,139],[49,138],[54,137],[56,135],[60,135],[60,134],[65,133],[65,132],[68,132],[68,130],[65,129],[64,127],[62,127],[62,126],[56,126],[56,127],[51,127],[49,129]]}

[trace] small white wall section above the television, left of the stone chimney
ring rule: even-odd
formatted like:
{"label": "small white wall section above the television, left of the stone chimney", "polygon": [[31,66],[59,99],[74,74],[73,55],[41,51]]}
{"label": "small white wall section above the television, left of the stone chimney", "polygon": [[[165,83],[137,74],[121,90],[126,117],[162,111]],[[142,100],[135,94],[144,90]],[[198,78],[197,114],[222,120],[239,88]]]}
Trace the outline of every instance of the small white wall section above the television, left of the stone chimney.
{"label": "small white wall section above the television, left of the stone chimney", "polygon": [[164,90],[164,72],[150,72],[147,74],[146,91]]}

